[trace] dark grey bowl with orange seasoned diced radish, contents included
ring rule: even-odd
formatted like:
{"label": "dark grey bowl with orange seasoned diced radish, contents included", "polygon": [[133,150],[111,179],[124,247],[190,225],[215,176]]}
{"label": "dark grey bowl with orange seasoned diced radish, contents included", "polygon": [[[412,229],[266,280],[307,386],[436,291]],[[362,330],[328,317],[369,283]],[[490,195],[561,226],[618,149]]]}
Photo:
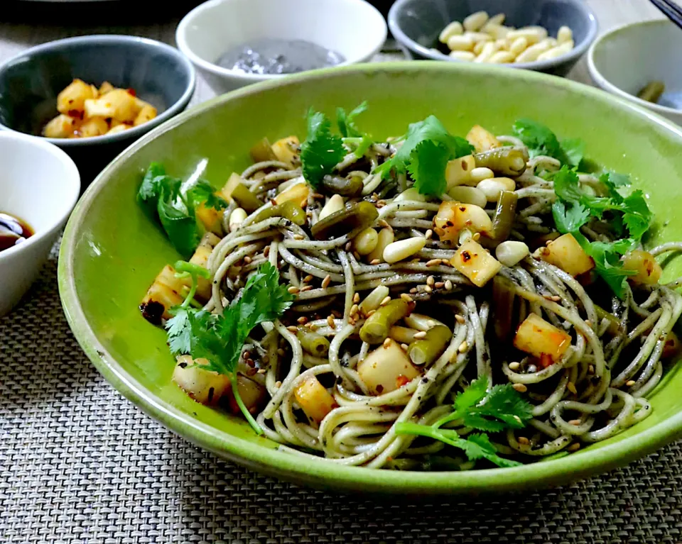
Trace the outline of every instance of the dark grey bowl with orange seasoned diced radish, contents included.
{"label": "dark grey bowl with orange seasoned diced radish, contents included", "polygon": [[0,129],[65,150],[85,184],[109,160],[183,111],[195,88],[188,59],[126,35],[66,38],[0,66]]}

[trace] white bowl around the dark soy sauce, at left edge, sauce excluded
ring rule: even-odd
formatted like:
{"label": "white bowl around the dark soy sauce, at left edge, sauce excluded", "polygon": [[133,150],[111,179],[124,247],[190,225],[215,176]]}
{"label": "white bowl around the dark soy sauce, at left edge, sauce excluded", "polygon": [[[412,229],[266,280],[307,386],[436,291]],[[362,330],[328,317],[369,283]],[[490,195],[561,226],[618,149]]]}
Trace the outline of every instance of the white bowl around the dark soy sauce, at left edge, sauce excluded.
{"label": "white bowl around the dark soy sauce, at left edge, sauce excluded", "polygon": [[80,194],[75,163],[56,145],[0,133],[0,211],[26,221],[34,234],[0,251],[0,316],[38,277]]}

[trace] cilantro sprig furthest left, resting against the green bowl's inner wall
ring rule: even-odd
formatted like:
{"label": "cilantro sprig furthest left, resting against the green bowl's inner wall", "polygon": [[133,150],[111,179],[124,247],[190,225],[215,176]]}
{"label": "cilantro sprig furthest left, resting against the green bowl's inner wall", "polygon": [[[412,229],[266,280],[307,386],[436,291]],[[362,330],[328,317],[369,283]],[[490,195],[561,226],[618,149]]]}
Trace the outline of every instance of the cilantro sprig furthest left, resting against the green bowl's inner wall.
{"label": "cilantro sprig furthest left, resting against the green bowl's inner wall", "polygon": [[183,181],[166,174],[158,162],[152,162],[144,174],[137,201],[148,216],[158,218],[173,247],[185,259],[191,257],[205,233],[197,219],[197,207],[200,204],[217,210],[227,207],[209,182],[200,179],[183,189]]}

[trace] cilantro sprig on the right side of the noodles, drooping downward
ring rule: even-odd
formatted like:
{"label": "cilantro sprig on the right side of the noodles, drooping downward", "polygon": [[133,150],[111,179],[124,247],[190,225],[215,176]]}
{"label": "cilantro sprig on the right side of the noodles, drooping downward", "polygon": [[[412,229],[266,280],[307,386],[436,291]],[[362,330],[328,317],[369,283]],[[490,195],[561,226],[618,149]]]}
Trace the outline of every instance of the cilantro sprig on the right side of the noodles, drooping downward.
{"label": "cilantro sprig on the right side of the noodles, drooping downward", "polygon": [[[623,268],[620,257],[637,245],[651,224],[652,213],[644,194],[637,190],[622,196],[618,188],[629,184],[629,180],[622,174],[612,172],[600,176],[608,196],[586,194],[580,188],[578,174],[565,166],[554,174],[553,180],[557,201],[552,206],[552,216],[557,230],[563,234],[570,233],[578,240],[583,250],[594,260],[597,274],[622,299],[623,282],[634,272]],[[580,227],[592,217],[603,218],[606,212],[611,214],[610,225],[615,227],[615,233],[622,235],[623,229],[627,229],[629,237],[612,243],[590,242],[580,232]]]}

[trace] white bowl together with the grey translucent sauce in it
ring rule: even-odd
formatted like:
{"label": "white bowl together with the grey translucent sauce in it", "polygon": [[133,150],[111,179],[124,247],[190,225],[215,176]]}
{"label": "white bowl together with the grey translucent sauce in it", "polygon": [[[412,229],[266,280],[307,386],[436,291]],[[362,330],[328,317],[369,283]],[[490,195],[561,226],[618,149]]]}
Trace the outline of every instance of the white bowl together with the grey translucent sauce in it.
{"label": "white bowl together with the grey translucent sauce in it", "polygon": [[367,61],[386,40],[386,21],[364,0],[210,0],[180,21],[175,39],[220,94]]}

